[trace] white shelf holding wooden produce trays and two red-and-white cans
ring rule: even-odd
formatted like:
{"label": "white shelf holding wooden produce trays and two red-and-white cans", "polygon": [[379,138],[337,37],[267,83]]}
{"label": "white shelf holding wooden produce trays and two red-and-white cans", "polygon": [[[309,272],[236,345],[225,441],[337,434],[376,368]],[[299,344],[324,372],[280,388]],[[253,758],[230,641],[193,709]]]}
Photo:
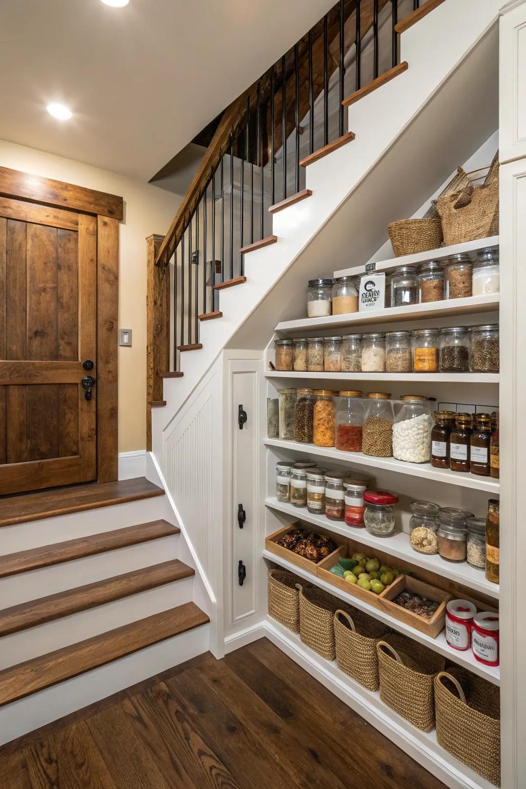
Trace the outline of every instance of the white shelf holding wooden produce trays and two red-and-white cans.
{"label": "white shelf holding wooden produce trays and two red-and-white cans", "polygon": [[442,633],[438,634],[437,638],[431,638],[431,636],[420,633],[420,630],[415,630],[414,627],[401,622],[400,619],[396,619],[394,616],[386,614],[385,611],[380,611],[379,608],[374,608],[374,606],[369,605],[359,597],[348,594],[347,592],[343,592],[341,589],[338,589],[337,586],[328,583],[328,581],[324,581],[323,578],[317,578],[307,570],[303,570],[302,567],[298,567],[296,564],[293,564],[286,559],[282,559],[281,556],[274,555],[274,553],[270,553],[270,551],[265,549],[263,551],[263,558],[268,559],[274,564],[278,564],[280,567],[285,567],[285,569],[290,570],[291,573],[295,573],[301,578],[304,578],[306,581],[310,581],[310,583],[319,586],[321,589],[325,589],[326,592],[329,592],[334,597],[338,597],[340,600],[345,600],[346,603],[353,605],[355,608],[359,608],[360,611],[365,611],[366,614],[386,623],[386,625],[392,627],[394,630],[398,630],[399,633],[403,633],[408,636],[408,638],[412,638],[413,641],[419,641],[420,644],[424,644],[430,649],[433,649],[435,652],[438,652],[449,660],[452,660],[453,663],[464,666],[465,668],[468,668],[469,671],[472,671],[473,674],[477,674],[480,677],[487,679],[488,682],[493,682],[494,685],[500,686],[501,680],[498,666],[490,667],[478,663],[473,657],[471,651],[457,652],[455,649],[450,649],[450,646],[446,641],[444,630],[442,630]]}

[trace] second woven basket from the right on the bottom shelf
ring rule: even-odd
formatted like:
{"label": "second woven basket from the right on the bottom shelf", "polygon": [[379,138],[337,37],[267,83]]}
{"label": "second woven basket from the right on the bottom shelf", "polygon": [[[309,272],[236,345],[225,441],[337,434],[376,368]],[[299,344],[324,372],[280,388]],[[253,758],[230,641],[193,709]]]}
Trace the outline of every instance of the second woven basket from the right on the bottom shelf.
{"label": "second woven basket from the right on the bottom shelf", "polygon": [[376,645],[380,698],[422,731],[435,726],[433,680],[446,660],[431,649],[397,633]]}

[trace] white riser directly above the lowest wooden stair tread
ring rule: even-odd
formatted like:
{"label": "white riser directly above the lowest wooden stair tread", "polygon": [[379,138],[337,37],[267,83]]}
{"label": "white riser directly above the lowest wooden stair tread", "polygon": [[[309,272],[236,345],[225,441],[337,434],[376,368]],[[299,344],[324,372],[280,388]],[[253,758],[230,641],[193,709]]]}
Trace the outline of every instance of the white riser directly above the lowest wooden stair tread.
{"label": "white riser directly above the lowest wooden stair tread", "polygon": [[147,589],[88,611],[65,616],[55,622],[13,633],[0,641],[0,670],[136,622],[137,619],[159,614],[191,600],[192,578],[183,578],[181,581]]}

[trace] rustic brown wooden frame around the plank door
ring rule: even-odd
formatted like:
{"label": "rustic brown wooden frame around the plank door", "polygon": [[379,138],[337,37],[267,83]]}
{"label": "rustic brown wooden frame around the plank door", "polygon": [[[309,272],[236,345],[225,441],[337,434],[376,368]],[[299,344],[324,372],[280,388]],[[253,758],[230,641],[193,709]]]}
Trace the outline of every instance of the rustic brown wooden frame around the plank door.
{"label": "rustic brown wooden frame around the plank door", "polygon": [[0,196],[97,219],[97,481],[118,479],[118,223],[122,197],[0,166]]}

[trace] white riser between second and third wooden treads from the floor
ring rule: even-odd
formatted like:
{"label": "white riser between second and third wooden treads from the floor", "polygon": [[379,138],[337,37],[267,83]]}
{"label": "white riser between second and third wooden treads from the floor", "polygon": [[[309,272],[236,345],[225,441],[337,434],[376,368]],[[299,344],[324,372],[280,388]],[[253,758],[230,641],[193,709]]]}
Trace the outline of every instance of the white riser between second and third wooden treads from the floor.
{"label": "white riser between second and third wooden treads from the floor", "polygon": [[[179,535],[0,578],[0,609],[177,559]],[[0,642],[1,647],[1,642]]]}

